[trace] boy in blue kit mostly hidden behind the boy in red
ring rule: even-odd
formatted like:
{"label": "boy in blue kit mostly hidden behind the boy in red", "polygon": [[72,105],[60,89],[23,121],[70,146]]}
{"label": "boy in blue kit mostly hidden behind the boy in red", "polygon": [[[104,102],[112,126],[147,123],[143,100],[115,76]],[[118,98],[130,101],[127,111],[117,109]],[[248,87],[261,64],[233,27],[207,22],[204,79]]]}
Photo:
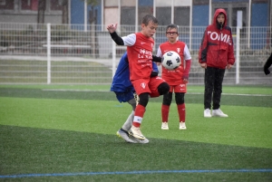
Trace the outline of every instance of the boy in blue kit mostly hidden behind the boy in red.
{"label": "boy in blue kit mostly hidden behind the boy in red", "polygon": [[[160,58],[155,57],[154,59]],[[151,77],[157,76],[159,72],[157,64],[155,62],[152,62],[152,66],[153,71],[151,72]],[[129,104],[131,104],[132,107],[130,116],[124,122],[121,129],[117,131],[117,136],[130,143],[148,143],[148,139],[136,139],[129,134],[134,118],[134,111],[137,105],[137,98],[134,97],[135,91],[130,81],[129,60],[127,53],[124,53],[122,55],[121,60],[118,64],[117,70],[112,79],[111,91],[115,92],[118,101],[128,102]]]}

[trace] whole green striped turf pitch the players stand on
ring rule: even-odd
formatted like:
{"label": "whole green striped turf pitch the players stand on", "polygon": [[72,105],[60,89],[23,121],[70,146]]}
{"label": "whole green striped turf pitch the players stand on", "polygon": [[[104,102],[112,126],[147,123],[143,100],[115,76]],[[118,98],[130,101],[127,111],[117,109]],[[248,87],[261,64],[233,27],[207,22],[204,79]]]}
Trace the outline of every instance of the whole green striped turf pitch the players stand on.
{"label": "whole green striped turf pitch the players stand on", "polygon": [[146,145],[116,137],[131,107],[107,90],[1,85],[0,181],[272,180],[271,88],[224,87],[229,117],[207,119],[203,87],[191,86],[187,130],[174,101],[170,129],[161,130],[162,98],[151,99],[141,125]]}

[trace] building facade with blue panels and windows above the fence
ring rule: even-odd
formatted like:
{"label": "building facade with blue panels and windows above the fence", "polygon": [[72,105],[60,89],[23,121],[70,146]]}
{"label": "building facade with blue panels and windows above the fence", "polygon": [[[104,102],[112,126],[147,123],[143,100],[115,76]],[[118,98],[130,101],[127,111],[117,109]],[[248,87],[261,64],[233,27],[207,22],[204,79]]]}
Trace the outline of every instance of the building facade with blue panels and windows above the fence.
{"label": "building facade with blue panels and windows above the fence", "polygon": [[[63,11],[68,11],[67,24],[126,24],[136,26],[145,14],[154,14],[160,25],[206,26],[217,8],[228,13],[228,25],[237,25],[237,12],[242,11],[243,26],[271,26],[270,0],[0,0],[0,22],[37,23],[39,1],[45,2],[44,23],[63,24]],[[95,0],[94,0],[95,1]],[[63,2],[67,8],[63,8]],[[65,14],[64,14],[65,15]]]}

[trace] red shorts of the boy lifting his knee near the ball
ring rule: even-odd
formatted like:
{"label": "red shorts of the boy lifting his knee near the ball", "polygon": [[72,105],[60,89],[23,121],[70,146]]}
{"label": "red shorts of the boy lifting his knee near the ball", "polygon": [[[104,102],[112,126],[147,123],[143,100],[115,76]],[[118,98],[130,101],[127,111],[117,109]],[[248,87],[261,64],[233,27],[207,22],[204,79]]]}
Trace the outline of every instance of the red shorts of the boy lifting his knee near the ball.
{"label": "red shorts of the boy lifting his knee near the ball", "polygon": [[141,93],[150,93],[151,97],[159,97],[160,93],[158,87],[160,83],[165,82],[159,76],[151,77],[149,79],[138,79],[131,81],[134,90],[138,95]]}

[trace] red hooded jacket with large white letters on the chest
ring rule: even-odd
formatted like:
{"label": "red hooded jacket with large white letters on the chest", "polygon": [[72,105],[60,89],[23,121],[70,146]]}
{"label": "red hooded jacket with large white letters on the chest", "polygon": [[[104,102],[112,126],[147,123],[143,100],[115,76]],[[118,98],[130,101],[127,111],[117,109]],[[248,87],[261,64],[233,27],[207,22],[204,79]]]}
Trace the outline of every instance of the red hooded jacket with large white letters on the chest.
{"label": "red hooded jacket with large white letters on the chest", "polygon": [[[217,25],[217,17],[225,14],[225,22],[220,29]],[[207,63],[207,66],[226,69],[227,64],[235,62],[231,29],[227,26],[227,14],[224,9],[217,9],[212,24],[206,28],[201,45],[199,47],[199,63]]]}

